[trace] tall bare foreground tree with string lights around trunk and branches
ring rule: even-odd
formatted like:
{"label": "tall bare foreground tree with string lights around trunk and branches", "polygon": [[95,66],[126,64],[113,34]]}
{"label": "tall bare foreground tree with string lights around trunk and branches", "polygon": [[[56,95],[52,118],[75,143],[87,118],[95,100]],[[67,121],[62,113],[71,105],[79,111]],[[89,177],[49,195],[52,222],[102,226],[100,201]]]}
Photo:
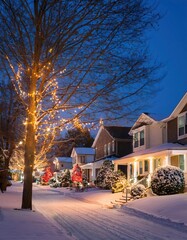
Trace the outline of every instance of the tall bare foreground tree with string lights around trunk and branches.
{"label": "tall bare foreground tree with string lights around trunk and branches", "polygon": [[23,209],[32,209],[36,151],[58,131],[129,116],[152,93],[144,33],[158,19],[144,0],[0,1],[0,54],[26,109]]}

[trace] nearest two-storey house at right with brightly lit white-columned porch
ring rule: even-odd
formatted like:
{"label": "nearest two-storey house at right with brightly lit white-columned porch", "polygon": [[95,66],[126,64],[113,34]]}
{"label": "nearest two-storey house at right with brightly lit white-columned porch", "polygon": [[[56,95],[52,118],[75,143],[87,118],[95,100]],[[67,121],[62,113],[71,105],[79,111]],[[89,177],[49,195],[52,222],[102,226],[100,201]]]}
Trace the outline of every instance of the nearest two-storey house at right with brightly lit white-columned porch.
{"label": "nearest two-storey house at right with brightly lit white-columned porch", "polygon": [[133,153],[114,161],[115,169],[124,164],[127,178],[134,182],[159,166],[173,165],[184,171],[187,182],[187,93],[171,115],[156,121],[142,113],[129,134]]}

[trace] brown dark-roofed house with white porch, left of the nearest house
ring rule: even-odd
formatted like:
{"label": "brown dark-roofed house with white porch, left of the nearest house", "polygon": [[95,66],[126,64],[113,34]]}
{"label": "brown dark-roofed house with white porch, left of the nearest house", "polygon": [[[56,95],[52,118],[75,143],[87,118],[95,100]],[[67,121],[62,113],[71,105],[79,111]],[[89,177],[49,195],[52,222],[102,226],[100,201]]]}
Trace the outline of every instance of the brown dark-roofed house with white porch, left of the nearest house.
{"label": "brown dark-roofed house with white porch, left of the nearest house", "polygon": [[[92,144],[95,149],[93,163],[85,164],[81,168],[90,171],[91,181],[94,181],[102,163],[105,160],[118,159],[132,152],[132,137],[128,134],[130,127],[100,126]],[[127,174],[126,165],[118,165],[118,169]]]}

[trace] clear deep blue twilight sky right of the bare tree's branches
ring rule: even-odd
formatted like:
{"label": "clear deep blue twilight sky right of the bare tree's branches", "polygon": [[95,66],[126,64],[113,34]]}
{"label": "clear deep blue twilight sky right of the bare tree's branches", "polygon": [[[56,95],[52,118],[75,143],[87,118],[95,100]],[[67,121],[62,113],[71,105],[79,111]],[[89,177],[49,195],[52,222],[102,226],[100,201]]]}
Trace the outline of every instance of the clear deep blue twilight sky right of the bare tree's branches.
{"label": "clear deep blue twilight sky right of the bare tree's branches", "polygon": [[144,112],[160,120],[171,114],[187,92],[187,0],[157,2],[165,15],[159,29],[151,33],[149,45],[153,58],[164,65],[166,76],[159,85],[160,92]]}

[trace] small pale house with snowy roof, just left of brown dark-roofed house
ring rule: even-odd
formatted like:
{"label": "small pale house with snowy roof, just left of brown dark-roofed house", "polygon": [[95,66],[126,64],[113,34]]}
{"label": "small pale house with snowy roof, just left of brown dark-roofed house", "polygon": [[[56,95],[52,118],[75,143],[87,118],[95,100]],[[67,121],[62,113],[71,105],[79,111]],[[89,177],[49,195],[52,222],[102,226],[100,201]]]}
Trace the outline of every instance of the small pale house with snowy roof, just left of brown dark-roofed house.
{"label": "small pale house with snowy roof, just left of brown dark-roofed house", "polygon": [[[88,181],[92,180],[92,165],[95,159],[95,149],[87,147],[75,147],[71,153],[73,167],[78,164],[82,169],[84,169],[84,174],[86,175]],[[85,167],[84,166],[88,166]]]}

